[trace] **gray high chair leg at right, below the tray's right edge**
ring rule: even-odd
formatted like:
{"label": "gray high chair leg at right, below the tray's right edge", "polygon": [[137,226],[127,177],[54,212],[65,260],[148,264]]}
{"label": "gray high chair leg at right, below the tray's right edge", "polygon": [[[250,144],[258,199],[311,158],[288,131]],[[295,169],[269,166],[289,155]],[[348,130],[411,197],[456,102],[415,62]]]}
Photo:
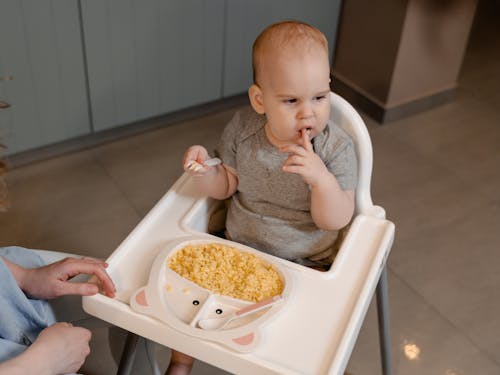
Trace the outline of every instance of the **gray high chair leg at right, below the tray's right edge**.
{"label": "gray high chair leg at right, below the tray's right edge", "polygon": [[389,333],[389,298],[387,294],[386,267],[384,265],[377,284],[377,316],[382,374],[391,375],[391,337]]}

